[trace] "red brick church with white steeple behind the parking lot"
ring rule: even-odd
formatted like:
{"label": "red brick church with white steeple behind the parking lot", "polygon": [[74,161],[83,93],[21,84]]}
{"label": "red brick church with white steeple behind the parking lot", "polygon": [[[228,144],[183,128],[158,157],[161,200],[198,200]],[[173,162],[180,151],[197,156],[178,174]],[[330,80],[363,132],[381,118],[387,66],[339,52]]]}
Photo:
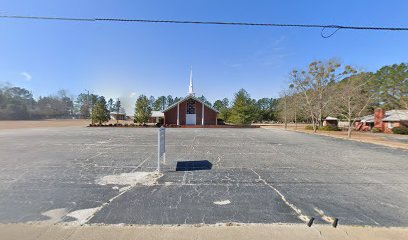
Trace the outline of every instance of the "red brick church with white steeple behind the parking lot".
{"label": "red brick church with white steeple behind the parking lot", "polygon": [[164,125],[217,125],[218,111],[195,97],[193,72],[190,72],[188,95],[163,110]]}

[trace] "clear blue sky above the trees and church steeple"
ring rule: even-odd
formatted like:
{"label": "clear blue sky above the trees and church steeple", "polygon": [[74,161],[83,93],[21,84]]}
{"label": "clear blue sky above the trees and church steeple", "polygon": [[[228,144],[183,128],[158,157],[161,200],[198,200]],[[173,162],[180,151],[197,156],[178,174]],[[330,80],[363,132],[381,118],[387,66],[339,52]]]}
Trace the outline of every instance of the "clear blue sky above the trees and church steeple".
{"label": "clear blue sky above the trees and church steeple", "polygon": [[[0,0],[0,15],[407,27],[408,1]],[[59,89],[120,98],[140,94],[214,102],[239,89],[279,97],[288,73],[314,60],[376,71],[407,62],[408,32],[0,19],[0,83],[47,96]],[[328,30],[330,33],[330,31]]]}

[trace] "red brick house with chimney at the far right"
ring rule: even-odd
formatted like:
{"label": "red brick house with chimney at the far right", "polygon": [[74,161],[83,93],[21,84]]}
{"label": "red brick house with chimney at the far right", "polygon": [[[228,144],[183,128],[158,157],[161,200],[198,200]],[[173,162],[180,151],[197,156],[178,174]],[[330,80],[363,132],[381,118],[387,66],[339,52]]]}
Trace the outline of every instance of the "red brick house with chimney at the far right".
{"label": "red brick house with chimney at the far right", "polygon": [[394,127],[408,127],[408,110],[389,110],[377,108],[373,115],[360,118],[356,122],[355,129],[359,131],[370,131],[378,128],[381,132],[392,133]]}

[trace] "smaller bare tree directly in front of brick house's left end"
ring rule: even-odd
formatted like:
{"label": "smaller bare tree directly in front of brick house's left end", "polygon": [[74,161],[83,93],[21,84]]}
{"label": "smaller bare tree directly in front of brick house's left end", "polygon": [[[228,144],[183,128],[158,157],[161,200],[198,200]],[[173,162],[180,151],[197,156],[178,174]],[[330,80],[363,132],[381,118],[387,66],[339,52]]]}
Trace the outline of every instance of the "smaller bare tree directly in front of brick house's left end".
{"label": "smaller bare tree directly in front of brick house's left end", "polygon": [[361,73],[344,79],[336,86],[334,113],[348,122],[347,136],[351,138],[352,126],[374,100],[374,94],[367,88],[371,73]]}

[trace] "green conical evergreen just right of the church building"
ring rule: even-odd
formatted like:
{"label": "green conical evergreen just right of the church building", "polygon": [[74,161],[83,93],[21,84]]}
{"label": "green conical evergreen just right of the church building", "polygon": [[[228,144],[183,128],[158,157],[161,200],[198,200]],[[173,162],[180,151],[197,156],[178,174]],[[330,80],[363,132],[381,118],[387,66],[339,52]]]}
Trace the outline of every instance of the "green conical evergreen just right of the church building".
{"label": "green conical evergreen just right of the church building", "polygon": [[244,89],[235,93],[229,121],[235,124],[250,124],[255,118],[255,100]]}

